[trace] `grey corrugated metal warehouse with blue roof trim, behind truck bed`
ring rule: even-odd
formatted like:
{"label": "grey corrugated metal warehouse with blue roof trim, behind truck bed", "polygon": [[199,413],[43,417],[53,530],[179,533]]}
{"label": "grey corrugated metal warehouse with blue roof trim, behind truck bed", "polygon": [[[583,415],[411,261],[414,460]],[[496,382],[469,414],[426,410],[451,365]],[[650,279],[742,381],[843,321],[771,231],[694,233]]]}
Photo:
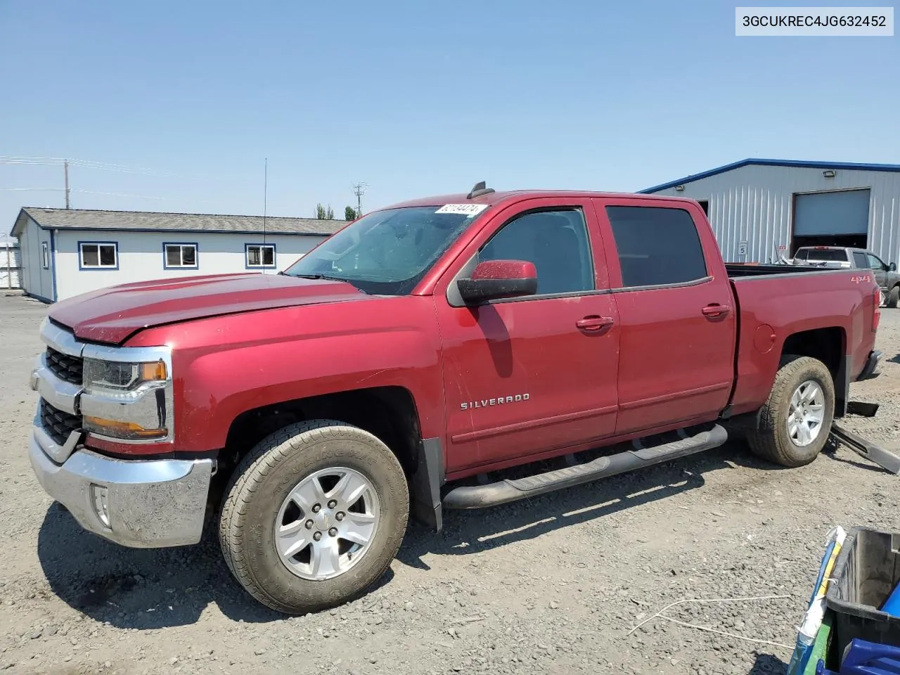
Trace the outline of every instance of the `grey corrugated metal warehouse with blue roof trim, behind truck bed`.
{"label": "grey corrugated metal warehouse with blue roof trim, behind truck bed", "polygon": [[777,262],[801,246],[900,262],[900,165],[744,159],[641,192],[700,202],[729,262]]}

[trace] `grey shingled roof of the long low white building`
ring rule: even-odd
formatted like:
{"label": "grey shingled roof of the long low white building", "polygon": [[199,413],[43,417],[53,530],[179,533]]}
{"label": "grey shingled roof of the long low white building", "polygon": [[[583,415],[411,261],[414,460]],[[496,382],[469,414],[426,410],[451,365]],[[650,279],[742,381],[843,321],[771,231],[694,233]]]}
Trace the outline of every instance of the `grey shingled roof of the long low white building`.
{"label": "grey shingled roof of the long low white building", "polygon": [[[12,234],[17,237],[28,218],[42,229],[121,229],[131,231],[237,232],[263,231],[262,216],[229,216],[209,213],[159,213],[155,211],[91,211],[86,209],[37,209],[19,211]],[[266,233],[334,234],[346,220],[266,217]]]}

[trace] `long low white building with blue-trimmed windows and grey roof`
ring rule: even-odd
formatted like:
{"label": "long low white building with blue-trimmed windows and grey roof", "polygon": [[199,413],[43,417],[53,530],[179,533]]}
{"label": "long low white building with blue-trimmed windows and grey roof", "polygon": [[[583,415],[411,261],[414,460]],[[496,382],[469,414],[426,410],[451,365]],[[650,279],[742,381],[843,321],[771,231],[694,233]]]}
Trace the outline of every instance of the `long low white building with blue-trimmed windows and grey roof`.
{"label": "long low white building with blue-trimmed windows and grey roof", "polygon": [[25,293],[44,302],[104,286],[235,272],[275,274],[343,220],[24,208],[12,235]]}

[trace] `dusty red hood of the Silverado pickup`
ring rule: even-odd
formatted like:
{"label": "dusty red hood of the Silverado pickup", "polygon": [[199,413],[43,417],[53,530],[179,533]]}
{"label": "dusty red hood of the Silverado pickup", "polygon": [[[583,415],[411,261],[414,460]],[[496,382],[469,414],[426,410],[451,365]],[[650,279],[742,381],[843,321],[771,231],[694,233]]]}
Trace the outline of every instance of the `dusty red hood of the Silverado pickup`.
{"label": "dusty red hood of the Silverado pickup", "polygon": [[241,311],[347,302],[369,296],[352,284],[286,275],[191,276],[121,284],[57,302],[50,320],[77,338],[121,344],[140,329]]}

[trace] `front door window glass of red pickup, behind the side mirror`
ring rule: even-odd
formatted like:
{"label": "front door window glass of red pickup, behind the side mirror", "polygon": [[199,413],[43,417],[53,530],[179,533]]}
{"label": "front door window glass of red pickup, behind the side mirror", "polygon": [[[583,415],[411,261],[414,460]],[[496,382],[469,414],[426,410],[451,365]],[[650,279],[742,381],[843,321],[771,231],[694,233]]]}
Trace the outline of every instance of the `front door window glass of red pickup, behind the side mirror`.
{"label": "front door window glass of red pickup, behind the side mirror", "polygon": [[579,209],[535,211],[510,220],[478,259],[534,263],[538,295],[594,290],[588,228]]}

